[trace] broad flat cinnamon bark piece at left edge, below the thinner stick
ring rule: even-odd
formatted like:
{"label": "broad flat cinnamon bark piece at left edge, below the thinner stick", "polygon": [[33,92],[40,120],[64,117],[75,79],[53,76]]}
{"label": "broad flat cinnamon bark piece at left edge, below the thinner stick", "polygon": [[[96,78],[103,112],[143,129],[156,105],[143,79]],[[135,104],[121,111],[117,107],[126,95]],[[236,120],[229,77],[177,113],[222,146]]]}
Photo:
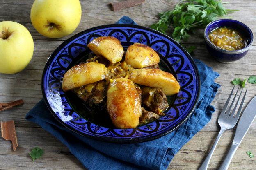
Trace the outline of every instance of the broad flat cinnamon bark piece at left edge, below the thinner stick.
{"label": "broad flat cinnamon bark piece at left edge, below the thinner stick", "polygon": [[16,151],[18,147],[18,139],[16,136],[14,121],[1,122],[1,134],[5,140],[12,143],[12,149]]}

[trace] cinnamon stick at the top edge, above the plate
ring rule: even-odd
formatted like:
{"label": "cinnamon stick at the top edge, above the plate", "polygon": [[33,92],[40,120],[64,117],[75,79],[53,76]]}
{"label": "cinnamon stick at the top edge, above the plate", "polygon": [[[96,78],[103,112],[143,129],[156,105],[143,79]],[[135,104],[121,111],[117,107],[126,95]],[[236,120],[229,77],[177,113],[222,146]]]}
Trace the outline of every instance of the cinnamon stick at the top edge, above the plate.
{"label": "cinnamon stick at the top edge, above the plate", "polygon": [[146,0],[125,0],[121,2],[110,2],[112,6],[113,11],[118,11],[120,9],[128,8],[128,7],[133,7],[138,4],[142,4]]}

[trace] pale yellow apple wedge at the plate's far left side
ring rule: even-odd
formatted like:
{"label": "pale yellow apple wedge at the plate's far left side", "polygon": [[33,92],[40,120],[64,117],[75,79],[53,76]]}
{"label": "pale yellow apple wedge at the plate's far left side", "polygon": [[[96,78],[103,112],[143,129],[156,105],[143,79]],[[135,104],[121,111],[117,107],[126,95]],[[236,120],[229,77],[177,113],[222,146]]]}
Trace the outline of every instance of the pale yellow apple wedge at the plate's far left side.
{"label": "pale yellow apple wedge at the plate's far left side", "polygon": [[90,62],[76,65],[64,74],[62,90],[65,92],[103,80],[106,75],[107,68],[104,64]]}

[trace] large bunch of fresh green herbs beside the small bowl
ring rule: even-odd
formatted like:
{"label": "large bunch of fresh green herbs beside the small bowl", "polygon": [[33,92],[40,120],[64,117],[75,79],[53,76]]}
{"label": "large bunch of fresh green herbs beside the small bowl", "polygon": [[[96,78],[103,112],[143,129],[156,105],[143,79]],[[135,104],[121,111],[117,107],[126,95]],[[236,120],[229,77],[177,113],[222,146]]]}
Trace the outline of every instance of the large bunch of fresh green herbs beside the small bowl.
{"label": "large bunch of fresh green herbs beside the small bowl", "polygon": [[195,34],[198,27],[206,26],[231,11],[237,11],[225,9],[222,5],[225,3],[221,0],[181,0],[173,10],[159,13],[159,21],[151,25],[151,28],[165,33],[171,27],[174,29],[172,37],[176,41],[186,41],[190,37],[189,33]]}

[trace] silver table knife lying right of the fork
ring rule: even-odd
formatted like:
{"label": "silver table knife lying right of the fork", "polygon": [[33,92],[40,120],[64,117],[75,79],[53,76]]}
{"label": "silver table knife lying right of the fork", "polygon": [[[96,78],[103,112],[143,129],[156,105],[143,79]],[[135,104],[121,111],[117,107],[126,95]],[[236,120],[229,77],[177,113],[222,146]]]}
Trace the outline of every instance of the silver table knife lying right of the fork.
{"label": "silver table knife lying right of the fork", "polygon": [[251,99],[250,103],[247,105],[247,107],[245,108],[245,111],[240,117],[240,120],[236,127],[234,140],[219,170],[227,170],[229,168],[229,164],[235,154],[235,151],[238,149],[238,146],[242,142],[242,139],[245,137],[245,134],[250,128],[251,123],[254,121],[255,117],[256,117],[256,96],[254,96],[254,98]]}

